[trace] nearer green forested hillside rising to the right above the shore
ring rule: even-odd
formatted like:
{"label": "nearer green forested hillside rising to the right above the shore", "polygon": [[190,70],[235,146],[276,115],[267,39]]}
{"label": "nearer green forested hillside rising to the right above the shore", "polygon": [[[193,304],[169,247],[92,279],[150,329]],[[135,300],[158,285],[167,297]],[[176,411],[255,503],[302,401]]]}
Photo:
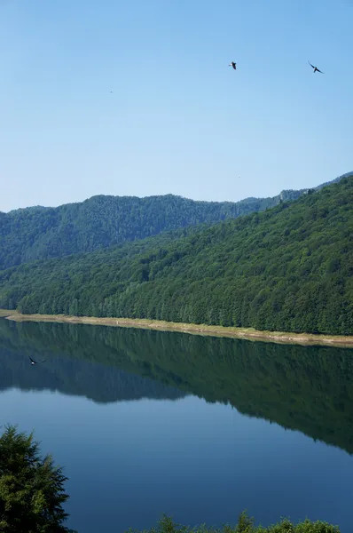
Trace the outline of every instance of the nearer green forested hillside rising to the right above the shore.
{"label": "nearer green forested hillside rising to the right above the shore", "polygon": [[353,177],[268,211],[142,243],[4,270],[0,306],[353,333]]}

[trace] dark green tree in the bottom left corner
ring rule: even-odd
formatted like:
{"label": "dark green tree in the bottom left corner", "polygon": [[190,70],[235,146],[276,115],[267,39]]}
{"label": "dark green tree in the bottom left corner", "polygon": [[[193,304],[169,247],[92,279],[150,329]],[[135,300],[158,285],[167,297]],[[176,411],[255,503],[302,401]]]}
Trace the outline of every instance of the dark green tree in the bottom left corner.
{"label": "dark green tree in the bottom left corner", "polygon": [[51,456],[40,456],[33,434],[8,426],[0,437],[0,531],[75,533],[63,525],[65,481]]}

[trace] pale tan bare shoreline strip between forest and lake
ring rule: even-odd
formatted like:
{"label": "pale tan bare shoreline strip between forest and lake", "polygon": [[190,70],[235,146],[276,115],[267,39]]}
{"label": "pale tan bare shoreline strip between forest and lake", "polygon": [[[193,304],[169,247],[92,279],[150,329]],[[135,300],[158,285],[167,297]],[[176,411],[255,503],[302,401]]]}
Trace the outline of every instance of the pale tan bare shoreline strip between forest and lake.
{"label": "pale tan bare shoreline strip between forest and lake", "polygon": [[67,316],[64,314],[20,314],[16,311],[0,309],[0,316],[16,322],[68,322],[122,328],[143,328],[145,330],[181,331],[194,335],[211,337],[246,338],[263,342],[300,344],[302,346],[340,346],[353,348],[353,336],[314,335],[310,333],[288,333],[283,331],[258,331],[253,328],[224,328],[206,324],[163,322],[139,318],[98,318],[95,316]]}

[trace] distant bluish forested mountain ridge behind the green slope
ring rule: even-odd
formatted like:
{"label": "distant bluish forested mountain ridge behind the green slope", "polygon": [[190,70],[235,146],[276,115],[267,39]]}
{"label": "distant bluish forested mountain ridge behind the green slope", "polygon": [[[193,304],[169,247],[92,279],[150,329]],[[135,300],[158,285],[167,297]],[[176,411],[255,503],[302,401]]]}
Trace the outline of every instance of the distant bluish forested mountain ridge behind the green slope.
{"label": "distant bluish forested mountain ridge behind the green slope", "polygon": [[195,202],[175,195],[98,195],[56,208],[35,206],[0,212],[0,270],[36,259],[107,248],[181,227],[235,219],[264,211],[280,201],[294,200],[307,190],[287,190],[272,198],[247,198],[237,203]]}

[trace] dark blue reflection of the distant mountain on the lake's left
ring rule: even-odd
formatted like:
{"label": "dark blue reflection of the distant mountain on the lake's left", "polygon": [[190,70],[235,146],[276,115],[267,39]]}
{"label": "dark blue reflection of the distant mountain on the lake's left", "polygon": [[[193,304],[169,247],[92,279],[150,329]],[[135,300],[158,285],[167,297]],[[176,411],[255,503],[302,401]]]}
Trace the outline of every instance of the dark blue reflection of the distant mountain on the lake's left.
{"label": "dark blue reflection of the distant mountain on the lake's left", "polygon": [[[1,335],[1,334],[0,334]],[[47,361],[31,367],[27,354]],[[0,338],[0,391],[11,387],[21,390],[51,390],[63,394],[86,396],[94,402],[122,402],[150,398],[176,400],[184,393],[173,386],[143,378],[99,362],[68,358],[40,351],[19,351],[4,347]]]}

